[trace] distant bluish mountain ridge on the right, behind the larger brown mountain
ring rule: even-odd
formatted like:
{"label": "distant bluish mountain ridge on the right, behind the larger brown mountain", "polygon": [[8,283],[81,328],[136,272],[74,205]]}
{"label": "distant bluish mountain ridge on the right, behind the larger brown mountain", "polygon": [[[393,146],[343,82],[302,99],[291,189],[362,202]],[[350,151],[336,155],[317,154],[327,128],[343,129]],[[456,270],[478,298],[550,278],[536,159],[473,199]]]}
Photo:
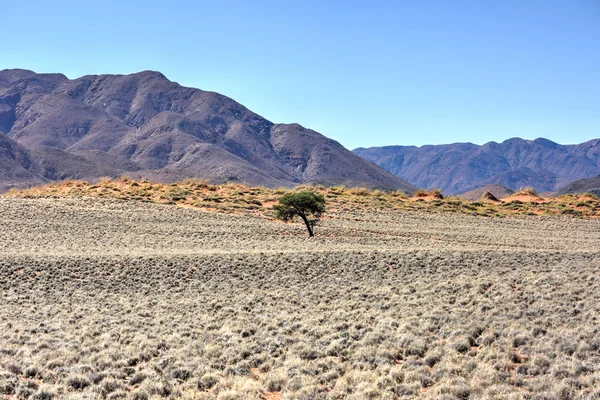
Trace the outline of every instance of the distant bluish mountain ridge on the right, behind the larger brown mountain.
{"label": "distant bluish mountain ridge on the right, behind the larger brown mountain", "polygon": [[354,153],[414,185],[439,188],[446,194],[489,184],[511,190],[532,186],[538,192],[554,192],[600,173],[600,139],[560,145],[542,138],[513,138],[482,146],[386,146],[358,148]]}

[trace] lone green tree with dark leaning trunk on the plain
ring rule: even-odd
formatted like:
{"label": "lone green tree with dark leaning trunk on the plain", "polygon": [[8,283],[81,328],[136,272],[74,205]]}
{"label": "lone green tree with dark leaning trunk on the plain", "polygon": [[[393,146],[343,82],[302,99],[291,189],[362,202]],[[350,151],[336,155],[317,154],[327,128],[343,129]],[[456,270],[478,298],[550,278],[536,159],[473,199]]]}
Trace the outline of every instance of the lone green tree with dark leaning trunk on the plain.
{"label": "lone green tree with dark leaning trunk on the plain", "polygon": [[[322,194],[310,191],[290,192],[284,194],[279,199],[279,204],[274,205],[273,209],[276,211],[276,218],[284,221],[289,221],[296,216],[300,216],[306,224],[308,235],[315,236],[312,228],[319,217],[325,212],[325,197]],[[312,220],[308,219],[310,215],[313,216]]]}

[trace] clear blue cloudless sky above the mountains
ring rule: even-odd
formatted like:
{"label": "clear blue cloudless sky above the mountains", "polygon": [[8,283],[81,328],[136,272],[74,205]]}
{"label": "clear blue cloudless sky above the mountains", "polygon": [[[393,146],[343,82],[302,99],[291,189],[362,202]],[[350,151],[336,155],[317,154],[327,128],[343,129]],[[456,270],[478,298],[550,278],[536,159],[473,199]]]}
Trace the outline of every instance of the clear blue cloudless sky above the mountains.
{"label": "clear blue cloudless sky above the mountains", "polygon": [[0,12],[0,69],[159,70],[348,148],[600,137],[600,0],[6,0]]}

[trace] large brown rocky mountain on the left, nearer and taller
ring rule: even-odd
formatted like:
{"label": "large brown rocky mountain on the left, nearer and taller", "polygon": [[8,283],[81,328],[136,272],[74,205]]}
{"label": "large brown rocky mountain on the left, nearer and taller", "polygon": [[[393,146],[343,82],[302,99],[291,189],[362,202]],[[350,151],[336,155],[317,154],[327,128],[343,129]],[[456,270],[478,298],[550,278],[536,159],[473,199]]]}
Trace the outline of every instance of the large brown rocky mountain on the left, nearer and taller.
{"label": "large brown rocky mountain on the left, nearer and taller", "polygon": [[0,71],[0,190],[65,178],[416,188],[338,142],[158,72]]}

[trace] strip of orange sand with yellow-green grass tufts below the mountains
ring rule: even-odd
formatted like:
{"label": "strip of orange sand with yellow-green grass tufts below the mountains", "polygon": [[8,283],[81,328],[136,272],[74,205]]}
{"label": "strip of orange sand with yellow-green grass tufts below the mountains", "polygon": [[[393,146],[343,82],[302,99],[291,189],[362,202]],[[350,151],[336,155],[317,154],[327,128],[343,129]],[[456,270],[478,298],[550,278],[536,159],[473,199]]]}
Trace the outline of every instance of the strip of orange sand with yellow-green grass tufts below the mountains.
{"label": "strip of orange sand with yellow-green grass tufts below the mountains", "polygon": [[[300,186],[294,190],[312,189],[326,196],[332,211],[418,211],[460,213],[487,217],[509,215],[570,215],[598,219],[600,201],[595,196],[566,195],[540,199],[528,189],[507,201],[468,201],[459,197],[442,196],[439,190],[418,191],[413,198],[400,192],[385,193],[365,188],[336,186]],[[287,190],[284,188],[252,188],[240,184],[210,185],[204,181],[187,180],[176,184],[136,182],[123,177],[112,181],[103,179],[96,184],[65,181],[25,190],[11,190],[5,196],[25,198],[55,198],[91,196],[135,200],[141,202],[194,207],[206,211],[244,213],[269,217],[271,207]],[[520,193],[520,192],[519,192]]]}

